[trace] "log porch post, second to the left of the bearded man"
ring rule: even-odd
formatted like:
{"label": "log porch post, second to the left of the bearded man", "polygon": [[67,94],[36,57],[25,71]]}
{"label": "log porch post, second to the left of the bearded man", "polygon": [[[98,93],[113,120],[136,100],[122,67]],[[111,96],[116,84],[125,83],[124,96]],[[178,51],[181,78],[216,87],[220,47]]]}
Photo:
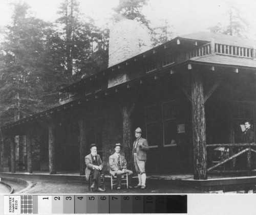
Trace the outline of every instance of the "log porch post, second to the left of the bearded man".
{"label": "log porch post, second to the left of the bearded man", "polygon": [[56,174],[56,161],[55,161],[55,125],[50,122],[49,128],[49,172]]}

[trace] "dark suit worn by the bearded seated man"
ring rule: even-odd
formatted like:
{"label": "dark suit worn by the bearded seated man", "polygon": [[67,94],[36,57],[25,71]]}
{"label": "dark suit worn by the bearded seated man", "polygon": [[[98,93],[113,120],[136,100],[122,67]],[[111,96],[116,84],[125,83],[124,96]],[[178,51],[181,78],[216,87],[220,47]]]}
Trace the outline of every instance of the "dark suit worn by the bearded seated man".
{"label": "dark suit worn by the bearded seated man", "polygon": [[100,159],[100,156],[96,156],[96,161],[93,160],[92,155],[89,154],[86,156],[86,180],[89,180],[89,177],[91,175],[93,181],[96,182],[97,186],[101,186],[101,181],[100,181],[100,174],[101,171],[96,170],[93,168],[94,165],[100,166],[101,170],[103,169],[103,163],[102,160]]}

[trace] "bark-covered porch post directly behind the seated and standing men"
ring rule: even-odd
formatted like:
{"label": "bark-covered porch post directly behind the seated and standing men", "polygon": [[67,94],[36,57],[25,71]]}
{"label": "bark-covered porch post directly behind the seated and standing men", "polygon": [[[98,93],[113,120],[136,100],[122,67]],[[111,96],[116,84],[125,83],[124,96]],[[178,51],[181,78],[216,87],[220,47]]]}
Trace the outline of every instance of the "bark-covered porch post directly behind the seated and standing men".
{"label": "bark-covered porch post directly behind the seated and standing men", "polygon": [[131,114],[134,109],[134,103],[131,105],[123,105],[122,107],[122,116],[123,116],[123,145],[124,145],[124,154],[125,159],[127,161],[127,168],[132,169],[132,122],[131,122]]}

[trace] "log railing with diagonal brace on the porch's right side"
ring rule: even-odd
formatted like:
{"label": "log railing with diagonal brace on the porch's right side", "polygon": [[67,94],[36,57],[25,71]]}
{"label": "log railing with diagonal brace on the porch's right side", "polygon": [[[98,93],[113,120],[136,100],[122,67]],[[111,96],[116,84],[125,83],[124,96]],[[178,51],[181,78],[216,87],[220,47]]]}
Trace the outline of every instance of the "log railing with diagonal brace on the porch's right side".
{"label": "log railing with diagonal brace on the porch's right side", "polygon": [[[210,168],[207,169],[207,172],[215,172],[215,173],[240,173],[240,172],[247,172],[247,174],[250,176],[251,172],[256,172],[256,169],[252,169],[251,166],[251,152],[256,153],[254,149],[251,149],[251,147],[256,147],[255,143],[252,144],[212,144],[212,145],[206,145],[207,148],[212,147],[225,147],[226,149],[229,149],[229,156],[225,156],[222,159],[219,160],[219,162],[216,165],[210,166]],[[236,154],[233,154],[233,148],[239,148],[238,152]],[[242,154],[247,154],[246,156],[246,164],[247,168],[244,170],[215,170],[219,168],[222,165],[225,165],[230,160],[235,160],[237,157],[241,156]],[[230,155],[231,154],[231,155]],[[237,161],[238,162],[238,161]],[[238,164],[238,163],[236,163]],[[256,168],[256,166],[253,166],[253,168]]]}

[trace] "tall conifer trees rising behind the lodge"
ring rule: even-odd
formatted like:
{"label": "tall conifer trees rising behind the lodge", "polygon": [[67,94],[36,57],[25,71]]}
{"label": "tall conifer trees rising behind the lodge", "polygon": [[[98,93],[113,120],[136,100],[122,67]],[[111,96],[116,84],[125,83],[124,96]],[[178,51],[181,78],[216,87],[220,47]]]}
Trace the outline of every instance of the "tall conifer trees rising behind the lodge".
{"label": "tall conifer trees rising behind the lodge", "polygon": [[[112,22],[137,20],[157,46],[172,39],[174,29],[167,20],[153,28],[142,13],[147,2],[120,0]],[[63,0],[54,22],[31,15],[24,1],[12,7],[12,23],[1,29],[0,126],[57,106],[60,88],[108,67],[109,29],[82,14],[79,0]],[[220,23],[209,30],[244,37],[248,25],[238,10],[230,5],[227,15],[228,26]]]}

